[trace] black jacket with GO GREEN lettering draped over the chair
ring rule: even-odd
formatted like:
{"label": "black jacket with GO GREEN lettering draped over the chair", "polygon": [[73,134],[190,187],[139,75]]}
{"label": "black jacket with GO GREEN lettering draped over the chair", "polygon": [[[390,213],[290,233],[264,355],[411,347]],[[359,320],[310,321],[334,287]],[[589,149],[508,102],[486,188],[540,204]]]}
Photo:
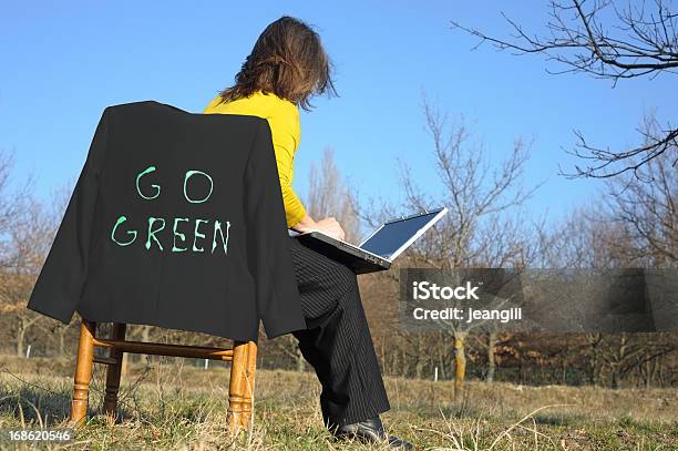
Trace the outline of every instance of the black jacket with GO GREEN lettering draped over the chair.
{"label": "black jacket with GO GREEN lettering draped over the chair", "polygon": [[268,121],[109,106],[28,307],[238,340],[306,328]]}

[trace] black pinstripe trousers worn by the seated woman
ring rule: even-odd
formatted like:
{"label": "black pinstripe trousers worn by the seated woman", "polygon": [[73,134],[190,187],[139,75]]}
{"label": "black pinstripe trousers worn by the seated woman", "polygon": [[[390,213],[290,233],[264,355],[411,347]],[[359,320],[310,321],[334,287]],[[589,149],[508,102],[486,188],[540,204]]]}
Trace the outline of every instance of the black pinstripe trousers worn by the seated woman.
{"label": "black pinstripe trousers worn by the seated woman", "polygon": [[390,409],[356,274],[290,238],[306,330],[294,332],[322,386],[320,409],[332,429]]}

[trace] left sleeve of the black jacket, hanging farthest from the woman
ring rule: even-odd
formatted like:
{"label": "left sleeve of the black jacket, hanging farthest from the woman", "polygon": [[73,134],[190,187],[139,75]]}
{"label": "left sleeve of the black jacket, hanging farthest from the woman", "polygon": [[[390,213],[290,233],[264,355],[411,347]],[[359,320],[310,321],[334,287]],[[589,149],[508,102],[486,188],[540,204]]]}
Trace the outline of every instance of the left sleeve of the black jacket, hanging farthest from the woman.
{"label": "left sleeve of the black jacket, hanging farthest from the woman", "polygon": [[99,174],[109,136],[104,110],[52,247],[31,293],[28,308],[69,324],[84,286],[92,238]]}

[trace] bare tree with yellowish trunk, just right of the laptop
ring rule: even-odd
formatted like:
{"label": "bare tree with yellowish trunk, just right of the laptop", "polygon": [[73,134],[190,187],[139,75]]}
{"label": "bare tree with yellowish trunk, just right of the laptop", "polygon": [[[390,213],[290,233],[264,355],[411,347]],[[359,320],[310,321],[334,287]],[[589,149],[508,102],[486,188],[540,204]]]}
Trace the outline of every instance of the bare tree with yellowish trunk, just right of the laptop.
{"label": "bare tree with yellowish trunk, just right of the laptop", "polygon": [[[409,208],[424,209],[439,204],[450,213],[413,247],[415,258],[424,258],[439,268],[520,267],[531,255],[526,247],[525,221],[511,213],[520,207],[538,184],[522,186],[522,174],[530,157],[528,146],[516,140],[504,160],[493,165],[482,143],[471,140],[463,125],[446,124],[446,114],[424,98],[427,131],[433,141],[433,166],[444,194],[425,195],[411,173],[403,170],[401,180]],[[521,238],[523,237],[523,238]],[[465,340],[482,321],[445,321],[454,339],[454,398],[461,399],[466,371]],[[493,351],[493,350],[492,350]]]}

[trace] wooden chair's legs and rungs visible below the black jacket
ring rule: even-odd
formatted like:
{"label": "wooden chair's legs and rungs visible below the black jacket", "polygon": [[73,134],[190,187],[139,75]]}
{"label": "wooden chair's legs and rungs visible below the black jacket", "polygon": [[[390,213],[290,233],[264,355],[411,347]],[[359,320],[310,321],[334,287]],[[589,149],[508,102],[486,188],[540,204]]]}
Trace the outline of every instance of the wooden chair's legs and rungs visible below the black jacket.
{"label": "wooden chair's legs and rungs visible below the black jacket", "polygon": [[[88,416],[88,392],[92,379],[93,363],[107,365],[106,391],[103,410],[116,417],[117,391],[124,352],[154,356],[188,357],[210,360],[230,360],[228,387],[228,423],[234,432],[247,429],[253,416],[253,398],[257,344],[235,341],[234,347],[210,348],[201,346],[164,345],[143,341],[125,341],[126,325],[114,322],[111,338],[96,337],[96,324],[82,319],[75,362],[71,422],[84,424]],[[109,357],[94,356],[94,347],[109,348]]]}

